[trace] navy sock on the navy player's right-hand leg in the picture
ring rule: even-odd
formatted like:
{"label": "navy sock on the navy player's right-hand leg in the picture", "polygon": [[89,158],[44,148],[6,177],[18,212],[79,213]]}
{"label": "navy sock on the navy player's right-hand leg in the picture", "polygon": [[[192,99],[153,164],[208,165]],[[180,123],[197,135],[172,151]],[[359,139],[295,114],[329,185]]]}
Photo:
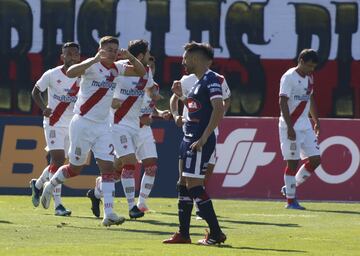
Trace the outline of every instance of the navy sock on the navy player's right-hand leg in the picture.
{"label": "navy sock on the navy player's right-hand leg in the picture", "polygon": [[189,189],[189,193],[191,198],[194,199],[197,203],[201,212],[201,216],[209,225],[210,235],[217,237],[218,234],[221,232],[221,229],[211,199],[206,194],[202,186],[197,186]]}

